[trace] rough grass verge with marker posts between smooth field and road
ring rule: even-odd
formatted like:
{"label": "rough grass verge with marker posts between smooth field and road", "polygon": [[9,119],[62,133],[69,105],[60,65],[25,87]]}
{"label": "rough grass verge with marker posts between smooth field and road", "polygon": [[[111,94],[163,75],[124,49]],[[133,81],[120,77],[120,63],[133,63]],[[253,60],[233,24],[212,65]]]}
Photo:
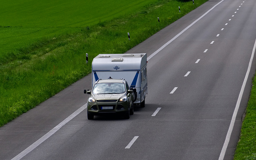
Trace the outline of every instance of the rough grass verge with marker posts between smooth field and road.
{"label": "rough grass verge with marker posts between smooth field and road", "polygon": [[[86,76],[98,54],[124,53],[206,1],[197,0],[193,5],[192,1],[159,0],[130,15],[23,47],[23,58],[0,66],[0,125]],[[89,54],[88,64],[85,53]]]}

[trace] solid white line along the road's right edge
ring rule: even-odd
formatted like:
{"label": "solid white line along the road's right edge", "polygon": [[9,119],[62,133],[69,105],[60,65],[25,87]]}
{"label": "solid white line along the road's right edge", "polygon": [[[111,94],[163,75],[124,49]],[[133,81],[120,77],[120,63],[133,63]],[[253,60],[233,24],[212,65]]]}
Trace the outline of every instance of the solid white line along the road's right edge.
{"label": "solid white line along the road's right edge", "polygon": [[244,77],[244,82],[243,82],[241,91],[239,93],[238,100],[236,102],[236,108],[234,110],[234,113],[233,113],[233,116],[232,116],[232,119],[231,119],[231,122],[230,122],[230,125],[229,125],[229,128],[228,128],[228,133],[227,133],[225,142],[224,142],[223,147],[222,147],[221,152],[220,152],[219,160],[224,159],[224,156],[225,156],[225,153],[226,153],[226,150],[227,150],[227,147],[228,147],[228,142],[230,140],[230,136],[231,136],[234,124],[235,124],[235,120],[236,120],[236,115],[237,115],[237,112],[238,112],[238,109],[239,109],[239,106],[240,106],[240,102],[241,102],[241,99],[242,99],[242,96],[243,96],[243,93],[244,93],[245,84],[246,84],[246,81],[248,79],[251,67],[252,67],[252,60],[253,60],[253,56],[254,56],[254,53],[255,53],[255,48],[256,48],[256,40],[255,40],[255,43],[254,43],[254,46],[253,46],[253,49],[252,49],[252,56],[251,56],[251,59],[250,59],[249,65],[248,65],[246,75]]}

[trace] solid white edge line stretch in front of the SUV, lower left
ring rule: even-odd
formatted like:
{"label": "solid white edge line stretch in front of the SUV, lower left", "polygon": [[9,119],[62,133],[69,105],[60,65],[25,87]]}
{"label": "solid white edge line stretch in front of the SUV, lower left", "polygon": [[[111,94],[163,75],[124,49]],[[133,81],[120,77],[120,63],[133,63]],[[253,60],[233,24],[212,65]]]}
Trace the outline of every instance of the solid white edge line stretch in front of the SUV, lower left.
{"label": "solid white edge line stretch in front of the SUV, lower left", "polygon": [[20,160],[22,157],[26,156],[29,152],[31,152],[33,149],[35,149],[37,146],[39,146],[41,143],[43,143],[45,140],[47,140],[50,136],[52,136],[55,132],[57,132],[63,125],[68,123],[71,119],[73,119],[75,116],[77,116],[79,113],[81,113],[85,108],[87,108],[87,103],[84,104],[82,107],[77,109],[74,113],[72,113],[68,118],[60,122],[56,127],[54,127],[51,131],[46,133],[43,137],[41,137],[39,140],[31,144],[28,148],[26,148],[24,151],[22,151],[20,154],[12,158],[12,160]]}

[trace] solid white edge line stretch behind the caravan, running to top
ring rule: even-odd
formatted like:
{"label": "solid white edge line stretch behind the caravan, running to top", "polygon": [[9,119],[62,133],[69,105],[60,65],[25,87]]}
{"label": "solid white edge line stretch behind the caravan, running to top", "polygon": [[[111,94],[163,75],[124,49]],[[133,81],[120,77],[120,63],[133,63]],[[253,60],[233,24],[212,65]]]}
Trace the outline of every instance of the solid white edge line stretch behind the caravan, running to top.
{"label": "solid white edge line stretch behind the caravan, running to top", "polygon": [[162,49],[164,49],[164,47],[166,47],[168,44],[170,44],[172,41],[174,41],[177,37],[179,37],[183,32],[185,32],[188,28],[190,28],[191,26],[193,26],[198,20],[202,19],[207,13],[209,13],[210,11],[212,11],[217,5],[219,5],[221,2],[223,2],[224,0],[220,1],[219,3],[215,4],[210,10],[208,10],[207,12],[205,12],[201,17],[199,17],[197,20],[195,20],[193,23],[191,23],[188,27],[186,27],[185,29],[183,29],[178,35],[176,35],[175,37],[173,37],[170,41],[168,41],[166,44],[164,44],[162,47],[160,47],[158,50],[156,50],[154,53],[152,53],[150,56],[148,56],[147,60],[150,60],[153,56],[155,56],[158,52],[160,52]]}

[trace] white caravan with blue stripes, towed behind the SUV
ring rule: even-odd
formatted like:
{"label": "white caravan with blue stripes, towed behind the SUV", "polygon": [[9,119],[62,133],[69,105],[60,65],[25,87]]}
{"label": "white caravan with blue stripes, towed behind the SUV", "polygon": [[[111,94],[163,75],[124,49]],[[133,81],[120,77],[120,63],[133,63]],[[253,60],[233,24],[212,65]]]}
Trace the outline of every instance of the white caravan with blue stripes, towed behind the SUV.
{"label": "white caravan with blue stripes, towed behind the SUV", "polygon": [[148,94],[147,54],[99,54],[92,61],[92,87],[98,79],[125,79],[134,90],[134,103],[145,106]]}

